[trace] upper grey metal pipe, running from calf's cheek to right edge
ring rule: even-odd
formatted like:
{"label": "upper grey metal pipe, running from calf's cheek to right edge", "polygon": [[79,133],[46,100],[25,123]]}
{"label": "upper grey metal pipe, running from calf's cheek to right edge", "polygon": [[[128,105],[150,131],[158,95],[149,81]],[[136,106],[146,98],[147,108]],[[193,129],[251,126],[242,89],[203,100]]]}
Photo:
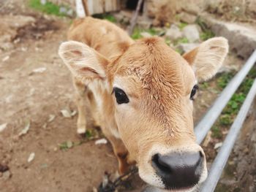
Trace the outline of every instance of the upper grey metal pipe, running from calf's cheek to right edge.
{"label": "upper grey metal pipe, running from calf's cheek to right edge", "polygon": [[195,127],[195,136],[197,138],[197,143],[200,144],[203,142],[203,139],[206,137],[206,134],[210,130],[211,126],[214,125],[214,122],[219,117],[220,113],[226,106],[227,102],[230,100],[233,93],[236,92],[238,86],[246,77],[249,70],[252,69],[252,66],[256,61],[256,50],[252,53],[249,59],[244,64],[243,68],[233,77],[232,80],[228,83],[227,87],[220,93],[219,97],[214,101],[214,104],[206,112],[206,115],[200,120],[200,122]]}

